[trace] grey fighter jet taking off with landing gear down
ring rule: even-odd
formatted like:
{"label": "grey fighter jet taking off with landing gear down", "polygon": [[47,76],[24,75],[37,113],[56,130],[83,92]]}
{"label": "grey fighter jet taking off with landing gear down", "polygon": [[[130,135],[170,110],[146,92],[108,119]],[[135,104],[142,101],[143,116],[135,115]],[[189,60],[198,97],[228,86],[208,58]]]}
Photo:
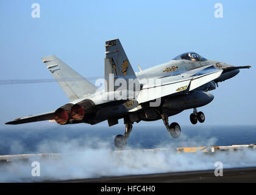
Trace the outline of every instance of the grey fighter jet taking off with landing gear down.
{"label": "grey fighter jet taking off with landing gear down", "polygon": [[[135,73],[119,39],[105,41],[104,89],[97,88],[80,76],[55,55],[41,58],[69,102],[53,112],[16,118],[5,124],[54,120],[58,124],[98,124],[108,121],[108,126],[124,120],[124,135],[115,137],[115,146],[124,148],[134,122],[163,120],[173,138],[179,138],[181,129],[177,122],[169,124],[168,117],[183,110],[193,109],[192,124],[204,122],[198,107],[209,104],[218,83],[230,79],[240,69],[251,66],[232,66],[207,60],[196,52],[186,52],[169,62]],[[104,84],[103,84],[104,83]]]}

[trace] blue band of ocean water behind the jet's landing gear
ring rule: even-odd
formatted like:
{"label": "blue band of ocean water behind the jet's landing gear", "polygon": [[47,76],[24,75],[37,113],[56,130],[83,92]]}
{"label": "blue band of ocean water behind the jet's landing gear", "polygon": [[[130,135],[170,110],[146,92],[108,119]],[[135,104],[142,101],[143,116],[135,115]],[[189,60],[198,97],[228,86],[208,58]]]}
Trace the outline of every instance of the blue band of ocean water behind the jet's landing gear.
{"label": "blue band of ocean water behind the jet's landing gear", "polygon": [[[107,145],[115,150],[114,138],[123,133],[123,126],[0,129],[0,155],[60,152],[59,148],[51,147],[54,143],[76,143],[80,147],[104,144],[104,147]],[[180,138],[174,139],[164,126],[135,125],[127,141],[127,146],[132,149],[232,144],[256,144],[256,126],[185,126]]]}

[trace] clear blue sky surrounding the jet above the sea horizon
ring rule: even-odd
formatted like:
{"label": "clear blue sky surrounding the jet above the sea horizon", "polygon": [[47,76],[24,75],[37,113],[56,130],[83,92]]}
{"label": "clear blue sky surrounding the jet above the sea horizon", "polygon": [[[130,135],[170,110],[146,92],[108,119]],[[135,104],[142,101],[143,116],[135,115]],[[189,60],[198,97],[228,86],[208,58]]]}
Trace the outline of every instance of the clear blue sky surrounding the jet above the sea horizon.
{"label": "clear blue sky surrounding the jet above the sea horizon", "polygon": [[[35,2],[40,4],[40,18],[31,16]],[[223,18],[214,15],[218,2]],[[121,40],[135,71],[138,64],[145,69],[195,51],[231,65],[252,65],[212,91],[213,102],[199,108],[205,113],[204,125],[255,125],[255,10],[256,1],[241,0],[1,0],[0,80],[52,79],[40,59],[51,54],[84,77],[104,76],[104,43],[113,38]],[[57,82],[0,85],[0,90],[1,128],[13,118],[49,112],[68,102]],[[191,125],[191,111],[169,120]],[[23,127],[38,124],[43,122]]]}

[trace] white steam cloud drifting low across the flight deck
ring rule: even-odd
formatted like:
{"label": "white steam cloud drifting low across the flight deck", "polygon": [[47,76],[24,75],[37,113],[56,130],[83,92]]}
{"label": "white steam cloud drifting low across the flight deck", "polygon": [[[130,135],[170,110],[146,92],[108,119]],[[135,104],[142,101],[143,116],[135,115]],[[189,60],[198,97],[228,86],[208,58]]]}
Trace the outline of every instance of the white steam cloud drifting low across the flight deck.
{"label": "white steam cloud drifting low across the flight deck", "polygon": [[[186,141],[183,139],[181,141]],[[187,140],[188,141],[188,140]],[[213,145],[216,139],[208,140]],[[97,144],[95,144],[97,143]],[[205,144],[205,141],[202,141]],[[189,140],[190,146],[200,144]],[[17,144],[18,145],[18,144]],[[172,144],[160,147],[166,150],[113,152],[112,146],[99,139],[80,146],[79,141],[44,141],[38,151],[60,152],[57,159],[30,159],[40,162],[41,176],[31,176],[31,163],[14,161],[0,166],[0,182],[34,182],[43,180],[85,179],[102,176],[124,176],[132,174],[152,174],[160,172],[194,171],[215,169],[215,162],[221,161],[225,168],[256,166],[255,151],[219,152],[214,155],[203,153],[178,154]]]}

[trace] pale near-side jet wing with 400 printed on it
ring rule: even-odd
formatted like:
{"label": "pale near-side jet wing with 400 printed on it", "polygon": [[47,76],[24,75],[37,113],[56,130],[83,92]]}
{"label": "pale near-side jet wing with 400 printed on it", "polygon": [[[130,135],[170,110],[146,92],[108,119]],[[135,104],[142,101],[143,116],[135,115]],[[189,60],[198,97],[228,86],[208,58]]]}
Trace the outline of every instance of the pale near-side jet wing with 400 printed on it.
{"label": "pale near-side jet wing with 400 printed on it", "polygon": [[[210,66],[206,67],[208,69]],[[188,92],[215,80],[221,76],[222,69],[212,69],[210,72],[204,68],[194,69],[180,76],[170,76],[160,79],[160,83],[155,82],[154,85],[144,85],[138,94],[137,101],[139,104],[152,101],[157,98],[178,94],[180,92]],[[191,74],[192,73],[192,74]],[[204,74],[205,73],[205,74]]]}

